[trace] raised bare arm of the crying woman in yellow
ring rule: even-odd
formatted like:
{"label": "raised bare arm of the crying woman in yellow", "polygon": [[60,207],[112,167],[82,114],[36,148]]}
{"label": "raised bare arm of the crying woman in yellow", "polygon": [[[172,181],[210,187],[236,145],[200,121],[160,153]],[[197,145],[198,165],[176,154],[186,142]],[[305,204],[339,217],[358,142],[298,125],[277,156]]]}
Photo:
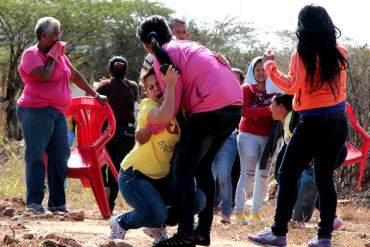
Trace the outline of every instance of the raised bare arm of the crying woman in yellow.
{"label": "raised bare arm of the crying woman in yellow", "polygon": [[165,124],[169,123],[174,116],[175,112],[175,86],[179,74],[173,66],[170,66],[164,77],[167,84],[166,94],[164,101],[160,107],[153,109],[148,114],[148,122],[152,124]]}

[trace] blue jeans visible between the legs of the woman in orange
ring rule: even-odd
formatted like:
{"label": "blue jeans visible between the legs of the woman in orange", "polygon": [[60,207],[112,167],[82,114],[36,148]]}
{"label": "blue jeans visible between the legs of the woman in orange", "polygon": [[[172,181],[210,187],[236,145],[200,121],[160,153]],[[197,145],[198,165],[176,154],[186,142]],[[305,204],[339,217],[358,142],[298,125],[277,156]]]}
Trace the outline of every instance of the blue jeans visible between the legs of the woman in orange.
{"label": "blue jeans visible between the legs of the woman in orange", "polygon": [[303,170],[298,181],[298,195],[294,205],[293,220],[308,222],[312,217],[317,199],[317,188],[315,183],[313,166]]}

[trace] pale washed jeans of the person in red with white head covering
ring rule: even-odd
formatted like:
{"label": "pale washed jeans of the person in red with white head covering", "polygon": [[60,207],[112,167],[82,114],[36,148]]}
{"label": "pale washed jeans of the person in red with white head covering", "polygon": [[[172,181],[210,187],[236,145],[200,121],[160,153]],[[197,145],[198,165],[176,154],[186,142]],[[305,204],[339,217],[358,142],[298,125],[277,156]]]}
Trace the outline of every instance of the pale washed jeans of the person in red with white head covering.
{"label": "pale washed jeans of the person in red with white head covering", "polygon": [[240,156],[240,178],[235,193],[235,211],[244,211],[248,185],[254,178],[252,213],[259,213],[267,190],[267,182],[271,162],[261,170],[260,160],[267,143],[267,136],[257,136],[240,132],[238,136],[238,150]]}

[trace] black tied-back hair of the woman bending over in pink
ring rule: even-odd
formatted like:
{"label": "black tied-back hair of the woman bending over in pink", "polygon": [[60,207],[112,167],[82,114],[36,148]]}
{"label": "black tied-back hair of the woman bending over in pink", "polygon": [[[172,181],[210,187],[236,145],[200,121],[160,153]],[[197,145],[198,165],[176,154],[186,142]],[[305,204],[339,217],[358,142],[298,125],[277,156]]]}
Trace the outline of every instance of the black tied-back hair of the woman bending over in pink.
{"label": "black tied-back hair of the woman bending over in pink", "polygon": [[152,45],[154,56],[160,64],[173,65],[170,57],[161,47],[172,38],[170,28],[162,16],[153,15],[143,20],[137,28],[137,36],[141,42]]}

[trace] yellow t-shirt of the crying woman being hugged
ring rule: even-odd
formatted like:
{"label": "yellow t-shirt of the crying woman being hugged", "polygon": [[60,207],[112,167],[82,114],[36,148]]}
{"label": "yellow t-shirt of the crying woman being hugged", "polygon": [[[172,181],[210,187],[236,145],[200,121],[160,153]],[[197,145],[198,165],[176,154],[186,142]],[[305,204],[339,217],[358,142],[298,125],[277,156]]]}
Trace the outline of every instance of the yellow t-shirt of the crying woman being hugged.
{"label": "yellow t-shirt of the crying woman being hugged", "polygon": [[[159,104],[152,99],[144,99],[139,105],[138,129],[148,125],[148,114]],[[180,127],[176,119],[158,134],[152,134],[149,141],[143,145],[136,143],[130,153],[126,155],[121,163],[122,169],[129,167],[139,170],[145,176],[152,179],[165,177],[170,171],[175,145],[180,140]]]}

